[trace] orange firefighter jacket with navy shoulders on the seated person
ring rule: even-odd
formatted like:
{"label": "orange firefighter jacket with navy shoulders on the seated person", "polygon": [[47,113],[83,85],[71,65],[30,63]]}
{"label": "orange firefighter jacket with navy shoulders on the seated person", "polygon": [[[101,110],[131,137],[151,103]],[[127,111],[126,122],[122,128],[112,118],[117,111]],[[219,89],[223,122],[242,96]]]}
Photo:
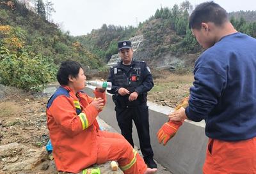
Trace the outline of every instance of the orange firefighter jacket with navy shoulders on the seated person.
{"label": "orange firefighter jacket with navy shoulders on the seated person", "polygon": [[[105,92],[93,91],[106,102]],[[78,173],[97,161],[96,117],[93,98],[62,86],[47,103],[47,126],[58,171]]]}

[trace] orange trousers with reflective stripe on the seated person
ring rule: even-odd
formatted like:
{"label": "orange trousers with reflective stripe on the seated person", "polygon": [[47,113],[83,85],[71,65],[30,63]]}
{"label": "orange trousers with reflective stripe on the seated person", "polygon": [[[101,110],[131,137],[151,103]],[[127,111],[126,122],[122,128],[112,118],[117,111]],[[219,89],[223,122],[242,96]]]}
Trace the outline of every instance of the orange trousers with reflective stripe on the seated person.
{"label": "orange trousers with reflective stripe on the seated person", "polygon": [[121,134],[99,131],[97,141],[97,164],[116,160],[125,174],[143,174],[147,170],[143,159]]}

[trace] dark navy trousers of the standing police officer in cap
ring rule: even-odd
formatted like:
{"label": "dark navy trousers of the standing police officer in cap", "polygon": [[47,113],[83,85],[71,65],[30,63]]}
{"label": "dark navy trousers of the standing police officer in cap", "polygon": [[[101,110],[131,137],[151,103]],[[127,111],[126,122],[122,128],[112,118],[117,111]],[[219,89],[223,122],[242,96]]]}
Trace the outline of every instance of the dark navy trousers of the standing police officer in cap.
{"label": "dark navy trousers of the standing police officer in cap", "polygon": [[132,140],[132,120],[137,128],[140,149],[144,159],[153,157],[154,153],[150,144],[148,106],[146,103],[136,106],[115,107],[116,119],[122,135],[134,147]]}

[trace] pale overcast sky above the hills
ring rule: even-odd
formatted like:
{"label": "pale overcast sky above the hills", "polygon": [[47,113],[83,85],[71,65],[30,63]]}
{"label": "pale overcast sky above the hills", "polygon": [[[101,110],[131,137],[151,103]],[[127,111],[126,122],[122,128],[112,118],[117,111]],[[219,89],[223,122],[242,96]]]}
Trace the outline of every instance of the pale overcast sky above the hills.
{"label": "pale overcast sky above the hills", "polygon": [[[71,35],[90,33],[92,29],[99,29],[102,24],[136,25],[154,15],[157,8],[180,4],[180,0],[52,0],[56,13],[52,20],[60,24],[61,29],[70,31]],[[196,4],[205,1],[190,0],[195,8]],[[239,10],[256,10],[255,0],[218,0],[228,12]]]}

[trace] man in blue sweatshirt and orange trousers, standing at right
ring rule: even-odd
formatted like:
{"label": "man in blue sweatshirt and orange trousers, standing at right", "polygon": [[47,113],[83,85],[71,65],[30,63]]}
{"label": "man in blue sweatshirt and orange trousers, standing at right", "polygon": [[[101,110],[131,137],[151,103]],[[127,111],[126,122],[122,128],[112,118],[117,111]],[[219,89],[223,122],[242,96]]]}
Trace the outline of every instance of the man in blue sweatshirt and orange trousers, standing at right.
{"label": "man in blue sweatshirt and orange trousers, standing at right", "polygon": [[256,40],[237,32],[214,2],[196,6],[189,28],[206,50],[195,63],[189,106],[169,118],[205,120],[205,174],[256,173]]}

